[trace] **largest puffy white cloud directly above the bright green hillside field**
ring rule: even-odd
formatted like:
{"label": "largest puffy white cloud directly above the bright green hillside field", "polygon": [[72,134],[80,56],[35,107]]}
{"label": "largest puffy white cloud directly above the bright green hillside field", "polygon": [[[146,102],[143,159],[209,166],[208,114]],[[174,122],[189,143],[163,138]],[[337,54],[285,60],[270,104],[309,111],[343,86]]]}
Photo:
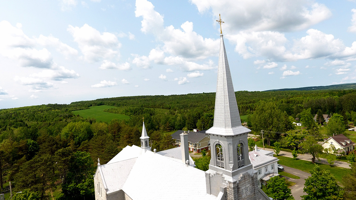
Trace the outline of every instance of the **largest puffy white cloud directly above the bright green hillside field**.
{"label": "largest puffy white cloud directly above the bright green hillside field", "polygon": [[72,34],[75,42],[78,43],[83,56],[80,58],[87,62],[98,62],[101,59],[119,57],[121,43],[113,33],[100,33],[95,28],[84,24],[82,27],[69,25],[67,31]]}

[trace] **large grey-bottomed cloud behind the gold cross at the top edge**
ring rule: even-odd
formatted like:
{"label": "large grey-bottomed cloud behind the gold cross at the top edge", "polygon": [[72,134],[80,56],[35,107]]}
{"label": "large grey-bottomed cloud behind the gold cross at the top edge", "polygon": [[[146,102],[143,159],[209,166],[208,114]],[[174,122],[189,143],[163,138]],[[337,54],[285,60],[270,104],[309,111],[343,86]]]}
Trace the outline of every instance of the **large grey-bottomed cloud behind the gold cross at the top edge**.
{"label": "large grey-bottomed cloud behind the gold cross at the top edge", "polygon": [[224,24],[226,32],[237,32],[241,29],[283,32],[303,30],[331,16],[331,11],[324,4],[313,3],[311,0],[191,1],[200,13],[211,11],[216,19],[219,19],[220,13],[224,13],[222,20],[229,22]]}

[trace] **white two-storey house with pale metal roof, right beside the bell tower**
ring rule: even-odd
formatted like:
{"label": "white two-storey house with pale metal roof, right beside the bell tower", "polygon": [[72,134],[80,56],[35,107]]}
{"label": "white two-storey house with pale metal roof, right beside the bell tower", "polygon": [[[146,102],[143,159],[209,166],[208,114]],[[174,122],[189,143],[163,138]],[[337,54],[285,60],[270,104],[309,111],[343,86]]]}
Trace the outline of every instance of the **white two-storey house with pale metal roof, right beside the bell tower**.
{"label": "white two-storey house with pale metal roof, right beside the bell tower", "polygon": [[258,186],[266,185],[266,181],[274,176],[278,176],[278,158],[273,157],[274,152],[258,149],[248,152],[252,167],[256,170]]}

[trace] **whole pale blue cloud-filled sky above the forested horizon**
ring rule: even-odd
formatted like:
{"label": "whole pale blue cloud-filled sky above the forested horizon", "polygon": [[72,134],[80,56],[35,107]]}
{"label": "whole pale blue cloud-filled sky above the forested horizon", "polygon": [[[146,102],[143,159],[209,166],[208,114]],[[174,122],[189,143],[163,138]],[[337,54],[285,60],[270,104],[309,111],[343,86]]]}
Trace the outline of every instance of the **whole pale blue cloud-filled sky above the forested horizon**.
{"label": "whole pale blue cloud-filled sky above the forested horizon", "polygon": [[0,109],[214,92],[221,14],[234,89],[356,82],[356,2],[3,1]]}

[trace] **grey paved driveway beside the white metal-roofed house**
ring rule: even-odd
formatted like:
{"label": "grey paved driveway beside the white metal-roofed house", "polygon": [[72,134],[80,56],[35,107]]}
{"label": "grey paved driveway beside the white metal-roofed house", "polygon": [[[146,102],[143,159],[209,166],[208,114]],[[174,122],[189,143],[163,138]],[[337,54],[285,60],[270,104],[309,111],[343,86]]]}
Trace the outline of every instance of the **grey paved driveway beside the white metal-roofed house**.
{"label": "grey paved driveway beside the white metal-roofed house", "polygon": [[[304,183],[305,183],[305,180],[306,178],[308,178],[309,176],[311,176],[311,174],[307,173],[307,172],[303,172],[299,169],[294,169],[294,168],[291,168],[291,167],[287,167],[287,166],[284,166],[284,171],[285,172],[288,172],[289,174],[294,174],[298,177],[300,177],[300,179],[292,179],[292,178],[289,178],[289,177],[286,177],[287,180],[289,181],[292,181],[295,183],[295,185],[293,186],[290,186],[290,190],[292,192],[292,195],[294,197],[295,200],[301,200],[302,198],[300,196],[302,195],[306,195],[307,193],[304,193],[303,192],[303,188],[304,188]],[[282,176],[284,177],[284,176]]]}

